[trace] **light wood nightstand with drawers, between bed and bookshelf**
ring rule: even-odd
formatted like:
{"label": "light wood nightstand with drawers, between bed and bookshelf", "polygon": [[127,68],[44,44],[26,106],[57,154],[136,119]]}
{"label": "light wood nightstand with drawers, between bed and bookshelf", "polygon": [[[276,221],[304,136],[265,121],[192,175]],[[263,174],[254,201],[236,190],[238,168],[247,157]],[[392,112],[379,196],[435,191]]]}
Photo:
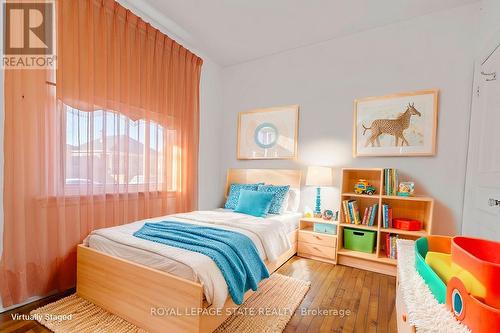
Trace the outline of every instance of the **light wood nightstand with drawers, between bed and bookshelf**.
{"label": "light wood nightstand with drawers, between bed and bookshelf", "polygon": [[[335,235],[315,232],[314,225],[322,223],[335,230]],[[304,258],[337,263],[337,221],[319,218],[302,218],[299,225],[297,254]]]}

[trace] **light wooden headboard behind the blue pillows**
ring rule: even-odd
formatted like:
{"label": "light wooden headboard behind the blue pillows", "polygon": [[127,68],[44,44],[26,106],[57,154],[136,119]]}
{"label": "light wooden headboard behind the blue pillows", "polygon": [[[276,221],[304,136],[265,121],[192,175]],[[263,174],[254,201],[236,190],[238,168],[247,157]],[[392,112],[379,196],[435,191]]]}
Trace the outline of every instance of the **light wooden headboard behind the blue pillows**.
{"label": "light wooden headboard behind the blue pillows", "polygon": [[227,170],[225,196],[232,183],[251,184],[263,182],[273,185],[290,185],[290,188],[300,191],[300,170],[287,169],[229,169]]}

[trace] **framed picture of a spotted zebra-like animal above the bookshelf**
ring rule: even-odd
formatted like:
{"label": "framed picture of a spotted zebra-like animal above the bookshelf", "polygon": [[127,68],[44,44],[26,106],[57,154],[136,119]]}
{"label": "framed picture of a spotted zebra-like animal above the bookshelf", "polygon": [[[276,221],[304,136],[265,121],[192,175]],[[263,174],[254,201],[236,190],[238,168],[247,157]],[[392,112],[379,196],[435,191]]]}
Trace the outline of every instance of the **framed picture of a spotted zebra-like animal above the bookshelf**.
{"label": "framed picture of a spotted zebra-like animal above the bookshelf", "polygon": [[354,101],[353,155],[436,154],[439,90]]}

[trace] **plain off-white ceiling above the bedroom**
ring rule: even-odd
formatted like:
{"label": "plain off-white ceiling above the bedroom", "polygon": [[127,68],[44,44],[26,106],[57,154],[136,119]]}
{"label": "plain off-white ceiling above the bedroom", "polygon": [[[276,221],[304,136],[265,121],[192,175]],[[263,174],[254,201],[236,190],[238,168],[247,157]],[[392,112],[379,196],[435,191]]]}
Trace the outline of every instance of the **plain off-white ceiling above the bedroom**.
{"label": "plain off-white ceiling above the bedroom", "polygon": [[[230,66],[478,0],[141,0],[164,26]],[[168,20],[167,20],[168,18]]]}

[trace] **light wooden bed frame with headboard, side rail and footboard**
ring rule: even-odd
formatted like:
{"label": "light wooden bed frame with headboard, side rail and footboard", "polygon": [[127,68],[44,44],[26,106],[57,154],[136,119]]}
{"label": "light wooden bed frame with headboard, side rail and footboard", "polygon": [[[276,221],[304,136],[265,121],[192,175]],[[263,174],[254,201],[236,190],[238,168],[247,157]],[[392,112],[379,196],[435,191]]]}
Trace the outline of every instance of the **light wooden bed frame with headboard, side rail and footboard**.
{"label": "light wooden bed frame with headboard, side rail and footboard", "polygon": [[[231,183],[290,185],[300,190],[300,170],[229,169]],[[292,248],[273,262],[274,272],[297,252],[297,230],[289,234]],[[207,306],[203,285],[79,245],[77,287],[81,297],[149,332],[212,332],[237,305],[228,298],[222,309]],[[245,294],[250,297],[252,290]],[[184,315],[170,311],[178,310]]]}

